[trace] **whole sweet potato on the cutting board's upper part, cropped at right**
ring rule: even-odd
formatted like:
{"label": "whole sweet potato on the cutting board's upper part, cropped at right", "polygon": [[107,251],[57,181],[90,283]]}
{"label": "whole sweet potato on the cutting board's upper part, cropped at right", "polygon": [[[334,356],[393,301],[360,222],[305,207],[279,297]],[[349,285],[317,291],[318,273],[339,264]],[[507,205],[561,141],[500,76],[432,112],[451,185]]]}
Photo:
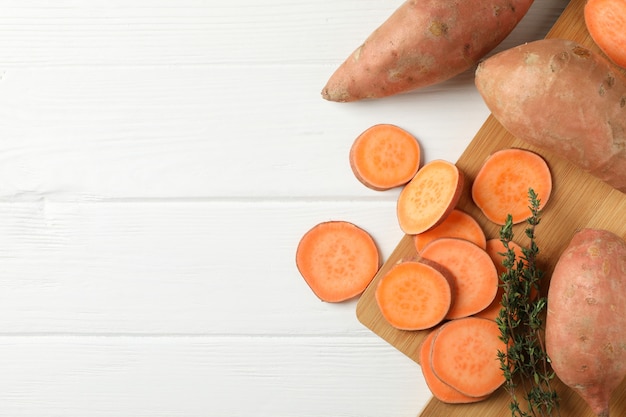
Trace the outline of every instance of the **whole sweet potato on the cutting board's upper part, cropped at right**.
{"label": "whole sweet potato on the cutting board's upper part, cropped at right", "polygon": [[626,192],[626,78],[604,57],[543,39],[487,58],[475,82],[514,136]]}

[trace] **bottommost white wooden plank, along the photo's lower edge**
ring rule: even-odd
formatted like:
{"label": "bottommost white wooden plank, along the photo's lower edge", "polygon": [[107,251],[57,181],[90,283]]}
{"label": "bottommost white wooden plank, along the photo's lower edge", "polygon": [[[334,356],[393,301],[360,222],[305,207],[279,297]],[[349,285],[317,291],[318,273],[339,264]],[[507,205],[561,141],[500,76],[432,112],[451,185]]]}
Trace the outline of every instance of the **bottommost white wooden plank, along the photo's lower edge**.
{"label": "bottommost white wooden plank, along the photo's lower edge", "polygon": [[0,337],[0,415],[402,416],[427,391],[418,368],[371,333]]}

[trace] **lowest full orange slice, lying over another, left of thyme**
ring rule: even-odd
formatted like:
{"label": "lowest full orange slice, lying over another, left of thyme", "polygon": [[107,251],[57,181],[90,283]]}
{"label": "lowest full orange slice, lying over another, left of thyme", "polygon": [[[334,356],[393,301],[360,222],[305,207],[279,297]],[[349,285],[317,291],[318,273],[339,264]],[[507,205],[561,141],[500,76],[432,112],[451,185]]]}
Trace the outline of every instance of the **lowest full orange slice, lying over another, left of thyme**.
{"label": "lowest full orange slice, lying over another, left of thyme", "polygon": [[500,329],[492,320],[467,317],[445,323],[431,348],[433,372],[469,397],[492,394],[504,383],[497,354],[506,345],[499,337]]}

